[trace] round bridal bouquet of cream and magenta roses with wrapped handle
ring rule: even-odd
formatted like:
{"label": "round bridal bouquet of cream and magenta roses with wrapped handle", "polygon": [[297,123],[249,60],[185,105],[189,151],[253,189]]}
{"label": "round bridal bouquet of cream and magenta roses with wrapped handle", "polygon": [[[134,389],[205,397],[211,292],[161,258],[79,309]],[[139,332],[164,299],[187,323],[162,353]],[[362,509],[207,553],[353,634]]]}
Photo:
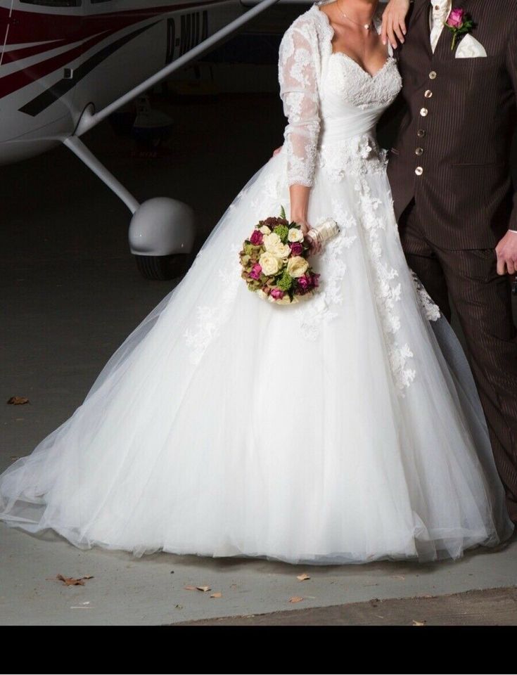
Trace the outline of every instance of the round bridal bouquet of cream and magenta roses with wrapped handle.
{"label": "round bridal bouquet of cream and magenta roses with wrapped handle", "polygon": [[[338,231],[336,222],[328,219],[309,234],[323,242]],[[283,208],[280,217],[259,221],[239,254],[241,276],[249,290],[276,304],[291,304],[312,295],[318,288],[319,274],[307,260],[309,234],[304,237],[300,225],[288,222]]]}

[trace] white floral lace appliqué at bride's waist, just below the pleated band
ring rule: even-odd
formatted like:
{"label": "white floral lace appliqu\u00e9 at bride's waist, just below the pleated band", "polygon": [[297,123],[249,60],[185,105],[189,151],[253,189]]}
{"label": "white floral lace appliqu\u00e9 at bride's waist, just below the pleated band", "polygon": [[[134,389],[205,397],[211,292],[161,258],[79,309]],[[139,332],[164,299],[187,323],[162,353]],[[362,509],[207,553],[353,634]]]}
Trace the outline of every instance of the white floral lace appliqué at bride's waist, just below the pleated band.
{"label": "white floral lace appliqu\u00e9 at bride's waist, just below the pleated band", "polygon": [[370,134],[324,144],[318,154],[318,166],[333,183],[350,176],[384,173],[387,164],[385,151]]}

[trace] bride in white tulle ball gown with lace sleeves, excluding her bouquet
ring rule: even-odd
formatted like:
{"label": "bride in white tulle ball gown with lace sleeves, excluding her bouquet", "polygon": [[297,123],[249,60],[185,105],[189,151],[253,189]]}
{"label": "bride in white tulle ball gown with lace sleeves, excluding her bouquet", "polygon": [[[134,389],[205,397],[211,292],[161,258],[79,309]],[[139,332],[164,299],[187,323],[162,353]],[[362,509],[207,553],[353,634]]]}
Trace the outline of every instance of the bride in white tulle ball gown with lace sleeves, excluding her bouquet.
{"label": "bride in white tulle ball gown with lace sleeves, excluding her bouquet", "polygon": [[[379,30],[376,0],[291,25],[283,150],[82,406],[0,477],[8,525],[290,563],[458,558],[509,536],[470,371],[400,245],[374,129],[401,79]],[[249,293],[238,261],[281,205],[305,232],[340,226],[312,258],[317,294],[287,307]]]}

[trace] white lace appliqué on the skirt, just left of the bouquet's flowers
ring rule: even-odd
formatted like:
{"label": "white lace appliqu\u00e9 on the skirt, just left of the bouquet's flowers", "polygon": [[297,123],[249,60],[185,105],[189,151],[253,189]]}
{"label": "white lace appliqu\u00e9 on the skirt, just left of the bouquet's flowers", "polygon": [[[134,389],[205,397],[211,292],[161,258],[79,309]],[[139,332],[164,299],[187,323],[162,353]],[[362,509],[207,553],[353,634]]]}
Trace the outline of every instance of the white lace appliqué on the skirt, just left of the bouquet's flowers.
{"label": "white lace appliqu\u00e9 on the skirt, just left of the bouquet's flowers", "polygon": [[[186,345],[191,347],[189,359],[192,364],[198,364],[203,358],[210,342],[217,337],[219,328],[225,323],[231,311],[238,286],[241,282],[240,265],[238,264],[238,246],[232,246],[233,264],[224,270],[219,270],[219,285],[221,294],[215,305],[200,305],[196,308],[196,328],[187,328],[184,332]],[[199,255],[199,254],[198,254]]]}

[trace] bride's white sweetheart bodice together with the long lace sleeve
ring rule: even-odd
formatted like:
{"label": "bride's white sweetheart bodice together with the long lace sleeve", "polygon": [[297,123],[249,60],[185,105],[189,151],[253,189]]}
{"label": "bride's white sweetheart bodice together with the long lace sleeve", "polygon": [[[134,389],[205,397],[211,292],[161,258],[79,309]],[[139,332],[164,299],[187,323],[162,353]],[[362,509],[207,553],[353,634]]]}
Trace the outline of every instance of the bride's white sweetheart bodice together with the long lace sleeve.
{"label": "bride's white sweetheart bodice together with the long lace sleeve", "polygon": [[370,75],[347,54],[333,53],[332,39],[326,13],[313,5],[281,42],[279,81],[288,118],[290,185],[312,186],[316,167],[339,181],[385,166],[375,127],[402,86],[395,59],[389,56]]}

